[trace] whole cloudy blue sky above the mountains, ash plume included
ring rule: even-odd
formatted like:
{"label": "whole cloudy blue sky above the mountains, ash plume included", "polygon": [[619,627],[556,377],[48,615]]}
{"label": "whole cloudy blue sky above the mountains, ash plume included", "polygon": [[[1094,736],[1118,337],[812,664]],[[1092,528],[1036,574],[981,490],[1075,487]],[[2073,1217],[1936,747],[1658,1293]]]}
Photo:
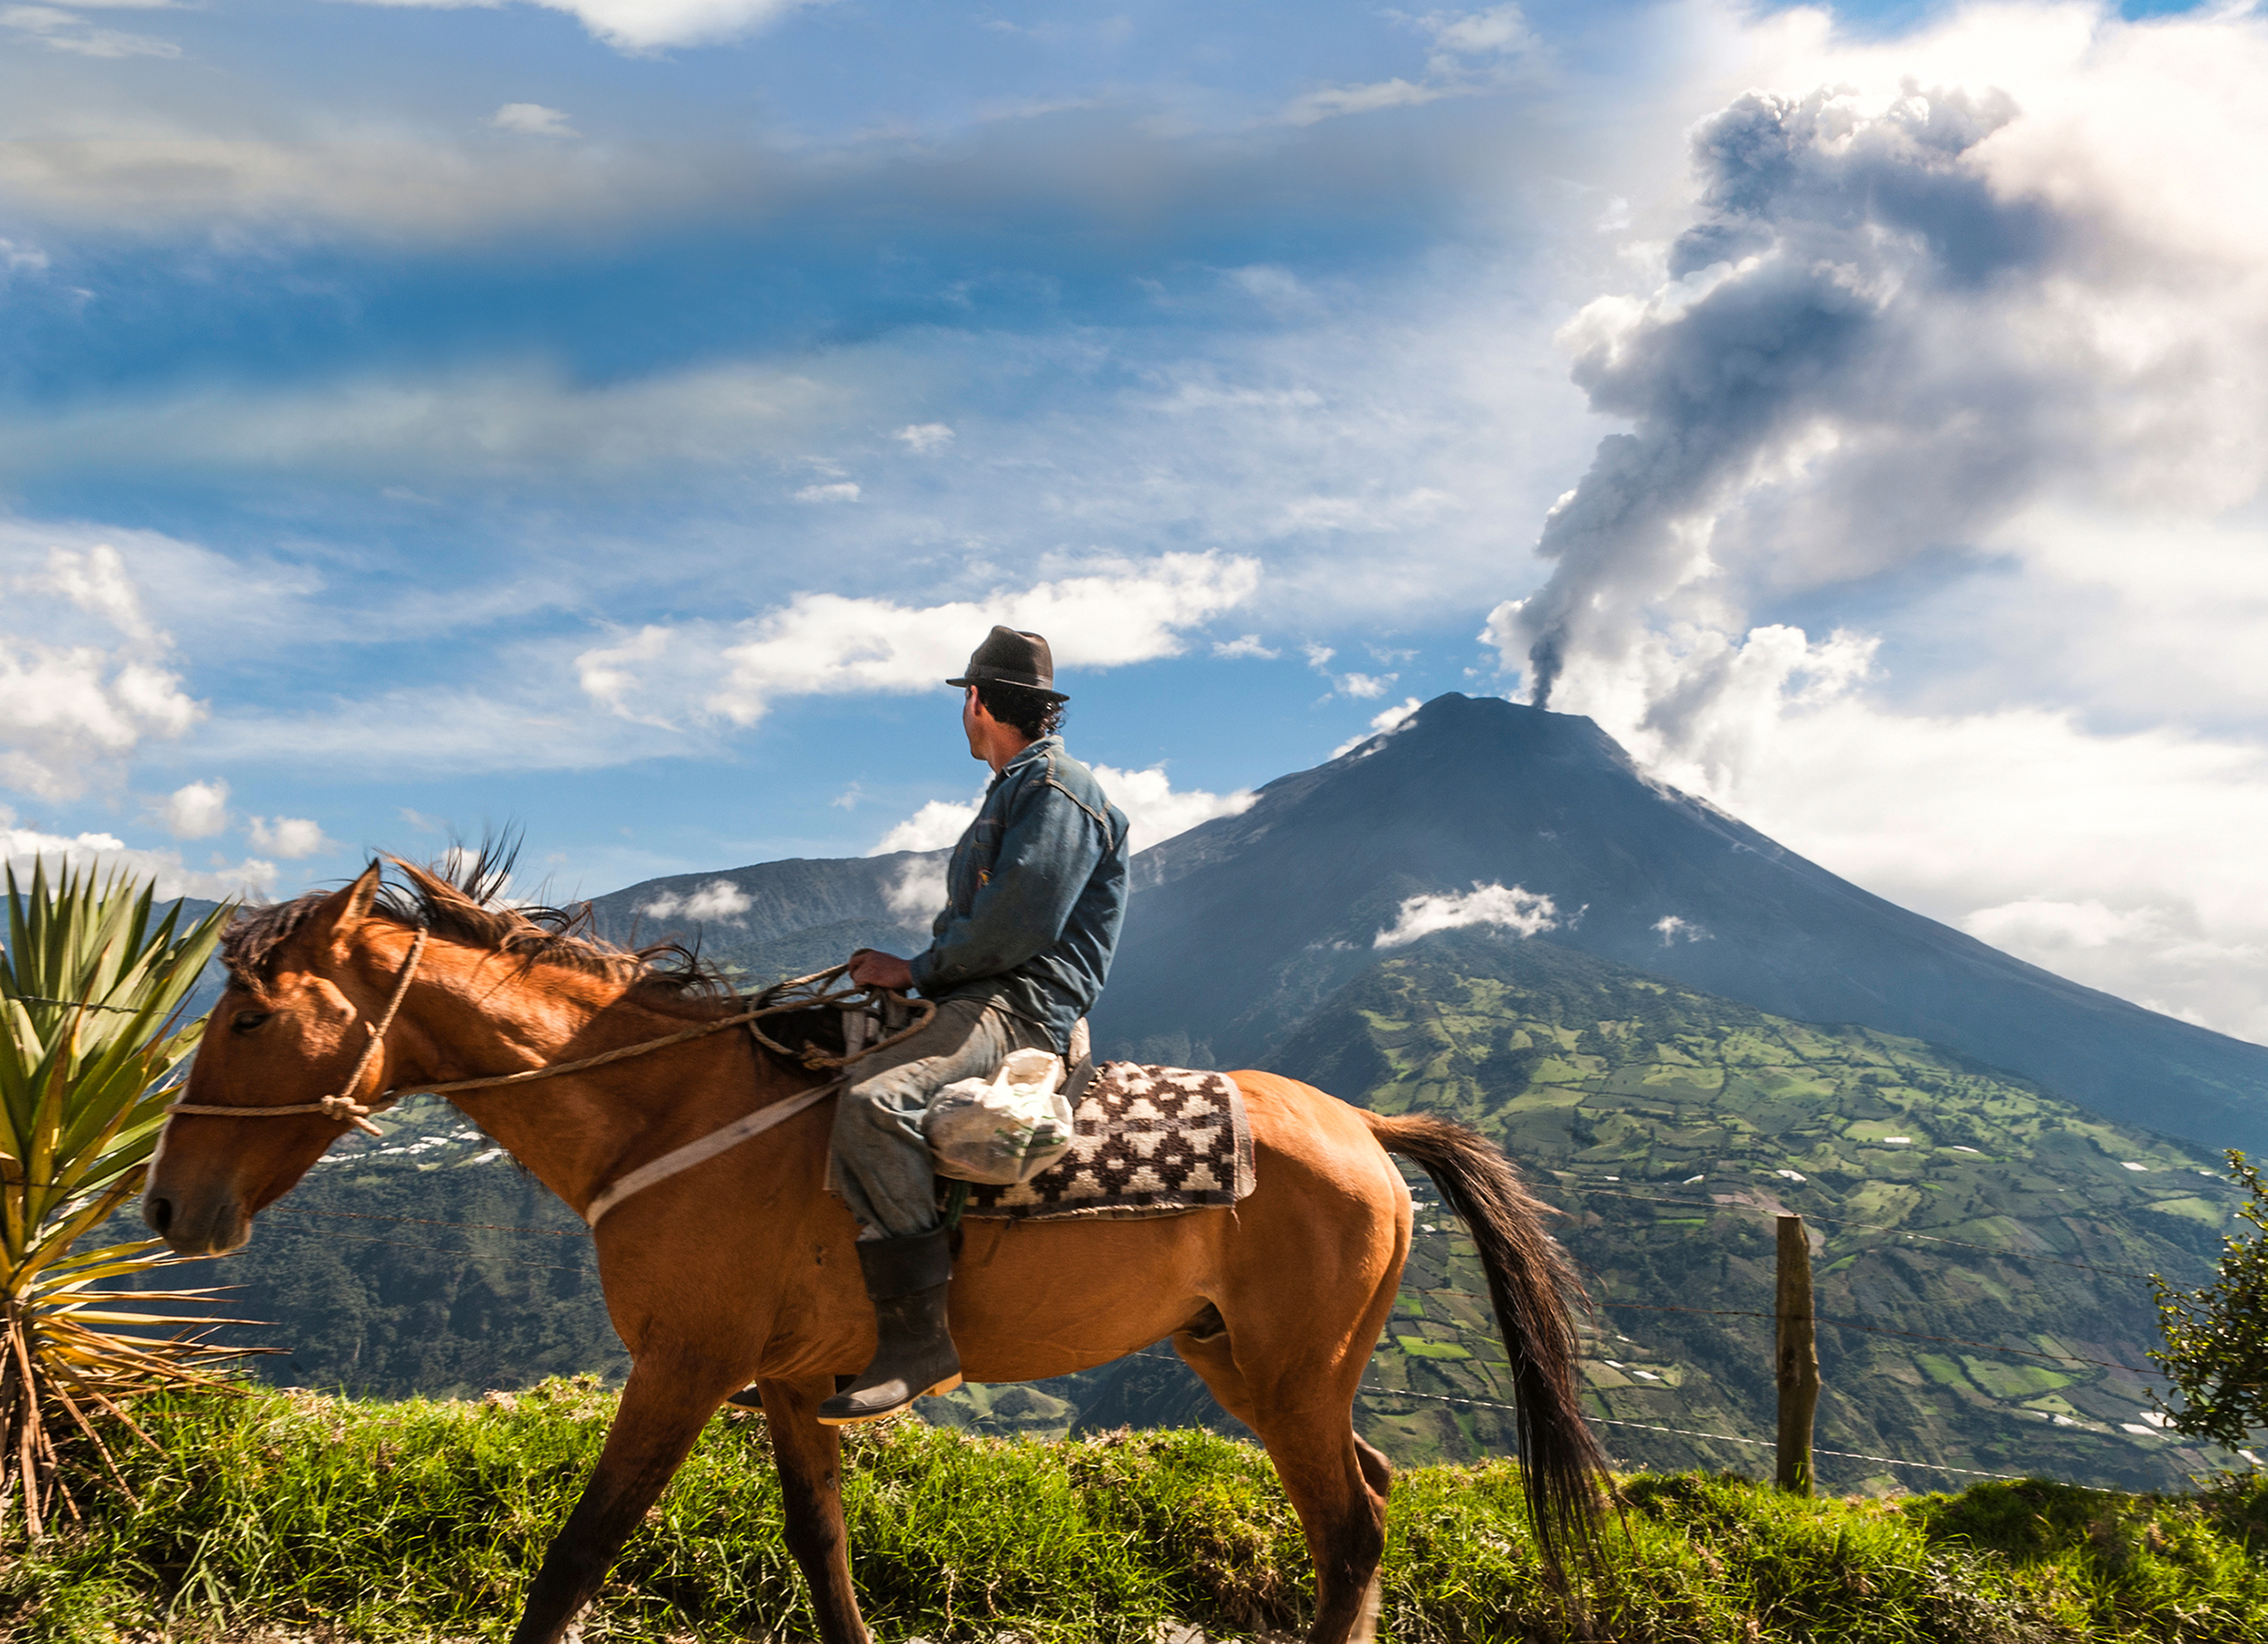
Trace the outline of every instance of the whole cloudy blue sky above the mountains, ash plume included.
{"label": "whole cloudy blue sky above the mountains, ash plume included", "polygon": [[1154,839],[1545,646],[2268,1034],[2268,39],[2143,11],[0,7],[0,834],[925,841],[1005,617]]}

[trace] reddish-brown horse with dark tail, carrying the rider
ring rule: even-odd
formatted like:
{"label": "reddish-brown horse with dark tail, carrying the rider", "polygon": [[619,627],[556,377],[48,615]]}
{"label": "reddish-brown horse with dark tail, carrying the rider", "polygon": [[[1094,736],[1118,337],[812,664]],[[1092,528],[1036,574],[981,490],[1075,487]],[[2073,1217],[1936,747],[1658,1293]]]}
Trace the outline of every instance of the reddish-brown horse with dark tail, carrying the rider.
{"label": "reddish-brown horse with dark tail, carrying the rider", "polygon": [[[624,952],[562,914],[497,905],[494,871],[372,864],[333,896],[245,916],[229,986],[186,1102],[297,1107],[333,1093],[404,977],[365,1102],[381,1091],[540,1068],[628,1048],[737,1009],[699,964]],[[778,1018],[776,1018],[778,1020]],[[1256,1190],[1234,1211],[1154,1220],[968,1222],[953,1274],[953,1338],[971,1381],[1091,1370],[1170,1336],[1222,1408],[1268,1447],[1315,1558],[1313,1644],[1365,1637],[1386,1542],[1386,1458],[1354,1433],[1354,1392],[1411,1245],[1411,1200],[1388,1152],[1415,1159],[1465,1220],[1510,1349],[1520,1442],[1551,1567],[1588,1540],[1601,1454],[1576,1404],[1574,1274],[1504,1156],[1433,1118],[1383,1118],[1268,1073],[1238,1073]],[[721,1032],[528,1088],[451,1098],[578,1213],[626,1170],[816,1082]],[[826,1644],[864,1644],[844,1546],[837,1429],[812,1410],[873,1351],[850,1243],[823,1186],[832,1102],[796,1113],[612,1209],[599,1277],[631,1379],[606,1449],[528,1592],[515,1644],[553,1644],[660,1497],[717,1406],[762,1395],[787,1512]],[[236,1249],[347,1118],[249,1122],[177,1113],[143,1213],[181,1254]]]}

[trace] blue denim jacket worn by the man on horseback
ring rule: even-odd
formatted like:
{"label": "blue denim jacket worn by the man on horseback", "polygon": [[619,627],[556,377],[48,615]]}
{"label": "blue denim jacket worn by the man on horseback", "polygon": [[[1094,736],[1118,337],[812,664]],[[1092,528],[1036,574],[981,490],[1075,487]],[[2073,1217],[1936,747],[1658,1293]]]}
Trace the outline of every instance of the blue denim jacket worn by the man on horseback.
{"label": "blue denim jacket worn by the man on horseback", "polygon": [[914,959],[914,986],[932,1000],[996,1000],[1068,1052],[1125,909],[1127,819],[1061,737],[1041,737],[993,778],[953,846],[946,909]]}

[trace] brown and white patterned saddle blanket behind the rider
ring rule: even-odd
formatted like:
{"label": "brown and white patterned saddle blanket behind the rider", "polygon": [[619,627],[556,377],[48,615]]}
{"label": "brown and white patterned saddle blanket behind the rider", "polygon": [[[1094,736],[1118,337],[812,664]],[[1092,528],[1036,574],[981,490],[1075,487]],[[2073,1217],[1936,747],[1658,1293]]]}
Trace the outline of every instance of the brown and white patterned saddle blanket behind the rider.
{"label": "brown and white patterned saddle blanket behind the rider", "polygon": [[1252,1125],[1225,1073],[1105,1061],[1073,1109],[1073,1127],[1070,1152],[1030,1181],[968,1184],[962,1215],[1177,1215],[1252,1193]]}

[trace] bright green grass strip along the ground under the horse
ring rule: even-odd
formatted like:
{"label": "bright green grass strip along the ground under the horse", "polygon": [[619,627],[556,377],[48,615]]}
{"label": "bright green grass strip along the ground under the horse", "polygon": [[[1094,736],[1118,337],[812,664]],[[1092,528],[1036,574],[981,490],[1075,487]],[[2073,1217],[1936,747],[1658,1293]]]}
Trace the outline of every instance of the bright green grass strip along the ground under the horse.
{"label": "bright green grass strip along the ground under the horse", "polygon": [[[306,1392],[152,1399],[122,1460],[141,1508],[0,1556],[0,1639],[440,1644],[508,1635],[599,1451],[612,1397]],[[1733,1476],[1624,1481],[1624,1524],[1569,1619],[1510,1463],[1395,1488],[1388,1637],[2268,1644],[2268,1481],[2189,1497],[1994,1483],[1796,1501]],[[1159,1624],[1297,1630],[1306,1549],[1266,1458],[1209,1433],[987,1440],[850,1433],[855,1576],[882,1639],[1148,1644]],[[626,1549],[583,1637],[810,1637],[764,1422],[723,1415]]]}

